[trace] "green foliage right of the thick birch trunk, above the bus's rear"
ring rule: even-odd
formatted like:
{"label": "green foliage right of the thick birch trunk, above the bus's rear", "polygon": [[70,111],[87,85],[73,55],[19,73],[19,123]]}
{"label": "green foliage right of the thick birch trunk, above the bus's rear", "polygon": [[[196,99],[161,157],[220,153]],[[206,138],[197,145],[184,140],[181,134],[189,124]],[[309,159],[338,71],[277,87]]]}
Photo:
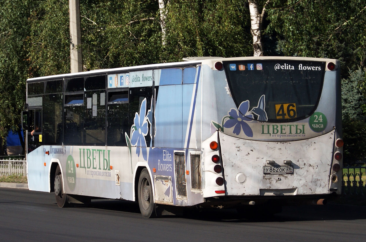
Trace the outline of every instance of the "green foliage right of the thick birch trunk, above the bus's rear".
{"label": "green foliage right of the thick birch trunk, above the bus's rear", "polygon": [[366,9],[359,0],[271,1],[266,34],[275,34],[285,56],[334,58],[348,68],[365,64]]}

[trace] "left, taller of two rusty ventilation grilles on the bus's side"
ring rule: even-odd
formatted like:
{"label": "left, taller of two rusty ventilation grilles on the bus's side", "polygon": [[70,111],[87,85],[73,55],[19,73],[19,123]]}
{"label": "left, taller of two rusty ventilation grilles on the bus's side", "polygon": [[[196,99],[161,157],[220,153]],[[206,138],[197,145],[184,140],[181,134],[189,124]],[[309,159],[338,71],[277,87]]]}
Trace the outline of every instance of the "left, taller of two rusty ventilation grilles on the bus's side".
{"label": "left, taller of two rusty ventilation grilles on the bus's side", "polygon": [[187,197],[186,163],[183,152],[174,153],[175,185],[179,197]]}

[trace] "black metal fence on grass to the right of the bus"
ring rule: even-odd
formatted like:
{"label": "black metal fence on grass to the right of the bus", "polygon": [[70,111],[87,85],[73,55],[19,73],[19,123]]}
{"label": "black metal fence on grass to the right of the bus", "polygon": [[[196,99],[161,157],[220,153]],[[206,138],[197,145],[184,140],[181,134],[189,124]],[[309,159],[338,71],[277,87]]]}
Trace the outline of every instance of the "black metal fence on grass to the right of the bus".
{"label": "black metal fence on grass to the right of the bus", "polygon": [[366,166],[343,167],[342,194],[366,196]]}

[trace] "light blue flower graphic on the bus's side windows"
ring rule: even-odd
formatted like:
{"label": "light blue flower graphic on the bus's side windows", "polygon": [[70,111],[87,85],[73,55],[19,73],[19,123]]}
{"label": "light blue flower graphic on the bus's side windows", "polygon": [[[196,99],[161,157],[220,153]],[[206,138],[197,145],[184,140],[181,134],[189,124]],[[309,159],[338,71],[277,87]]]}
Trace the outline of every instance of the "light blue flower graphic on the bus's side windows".
{"label": "light blue flower graphic on the bus's side windows", "polygon": [[131,144],[136,145],[136,154],[140,156],[140,148],[142,150],[142,156],[144,160],[147,160],[146,140],[145,136],[149,131],[147,127],[146,113],[146,98],[142,101],[140,107],[140,114],[135,113],[134,129],[131,137]]}

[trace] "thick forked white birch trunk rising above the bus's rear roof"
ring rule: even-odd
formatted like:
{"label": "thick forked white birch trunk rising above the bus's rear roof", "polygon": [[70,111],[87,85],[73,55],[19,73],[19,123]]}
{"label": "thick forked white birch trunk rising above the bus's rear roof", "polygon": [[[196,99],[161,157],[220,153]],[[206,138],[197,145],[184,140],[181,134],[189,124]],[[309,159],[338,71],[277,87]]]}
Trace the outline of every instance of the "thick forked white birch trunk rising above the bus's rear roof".
{"label": "thick forked white birch trunk rising above the bus's rear roof", "polygon": [[270,0],[267,0],[259,13],[258,0],[248,0],[250,12],[250,33],[253,36],[253,56],[263,56],[263,46],[261,39],[263,16],[266,10],[266,5]]}

